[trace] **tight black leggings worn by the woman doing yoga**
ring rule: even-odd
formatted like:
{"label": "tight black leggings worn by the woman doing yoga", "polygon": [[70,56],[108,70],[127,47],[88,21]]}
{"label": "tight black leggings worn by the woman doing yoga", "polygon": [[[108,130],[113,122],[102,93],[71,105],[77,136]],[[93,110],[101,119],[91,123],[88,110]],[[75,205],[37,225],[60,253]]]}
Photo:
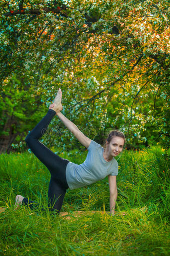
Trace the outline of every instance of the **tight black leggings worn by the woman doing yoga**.
{"label": "tight black leggings worn by the woman doing yoga", "polygon": [[[32,153],[48,168],[51,178],[48,187],[48,209],[59,213],[68,184],[66,182],[65,169],[68,160],[55,155],[46,146],[38,141],[47,130],[48,124],[56,112],[48,109],[47,114],[40,120],[34,129],[26,136],[25,142]],[[22,204],[31,209],[38,208],[38,204],[27,198],[23,198]],[[41,208],[43,209],[43,207]]]}

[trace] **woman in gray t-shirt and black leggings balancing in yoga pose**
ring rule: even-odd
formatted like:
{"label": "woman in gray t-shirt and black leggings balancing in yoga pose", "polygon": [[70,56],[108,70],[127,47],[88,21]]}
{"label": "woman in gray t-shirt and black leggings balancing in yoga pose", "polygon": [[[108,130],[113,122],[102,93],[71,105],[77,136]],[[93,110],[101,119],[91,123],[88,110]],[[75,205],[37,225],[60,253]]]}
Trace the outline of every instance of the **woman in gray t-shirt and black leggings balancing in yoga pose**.
{"label": "woman in gray t-shirt and black leggings balancing in yoga pose", "polygon": [[[47,114],[25,138],[26,144],[32,153],[48,168],[51,174],[48,188],[48,208],[50,211],[59,213],[68,187],[70,189],[83,187],[108,176],[110,214],[114,215],[117,198],[116,175],[118,174],[118,164],[114,157],[123,149],[124,135],[119,131],[112,131],[106,139],[106,148],[102,148],[82,134],[77,126],[60,112],[62,110],[61,98],[62,92],[59,88]],[[88,150],[84,163],[80,165],[71,163],[55,155],[38,141],[45,133],[54,115],[59,117],[77,140]],[[20,204],[29,205],[31,209],[38,207],[37,203],[17,195],[15,205],[18,207]]]}

